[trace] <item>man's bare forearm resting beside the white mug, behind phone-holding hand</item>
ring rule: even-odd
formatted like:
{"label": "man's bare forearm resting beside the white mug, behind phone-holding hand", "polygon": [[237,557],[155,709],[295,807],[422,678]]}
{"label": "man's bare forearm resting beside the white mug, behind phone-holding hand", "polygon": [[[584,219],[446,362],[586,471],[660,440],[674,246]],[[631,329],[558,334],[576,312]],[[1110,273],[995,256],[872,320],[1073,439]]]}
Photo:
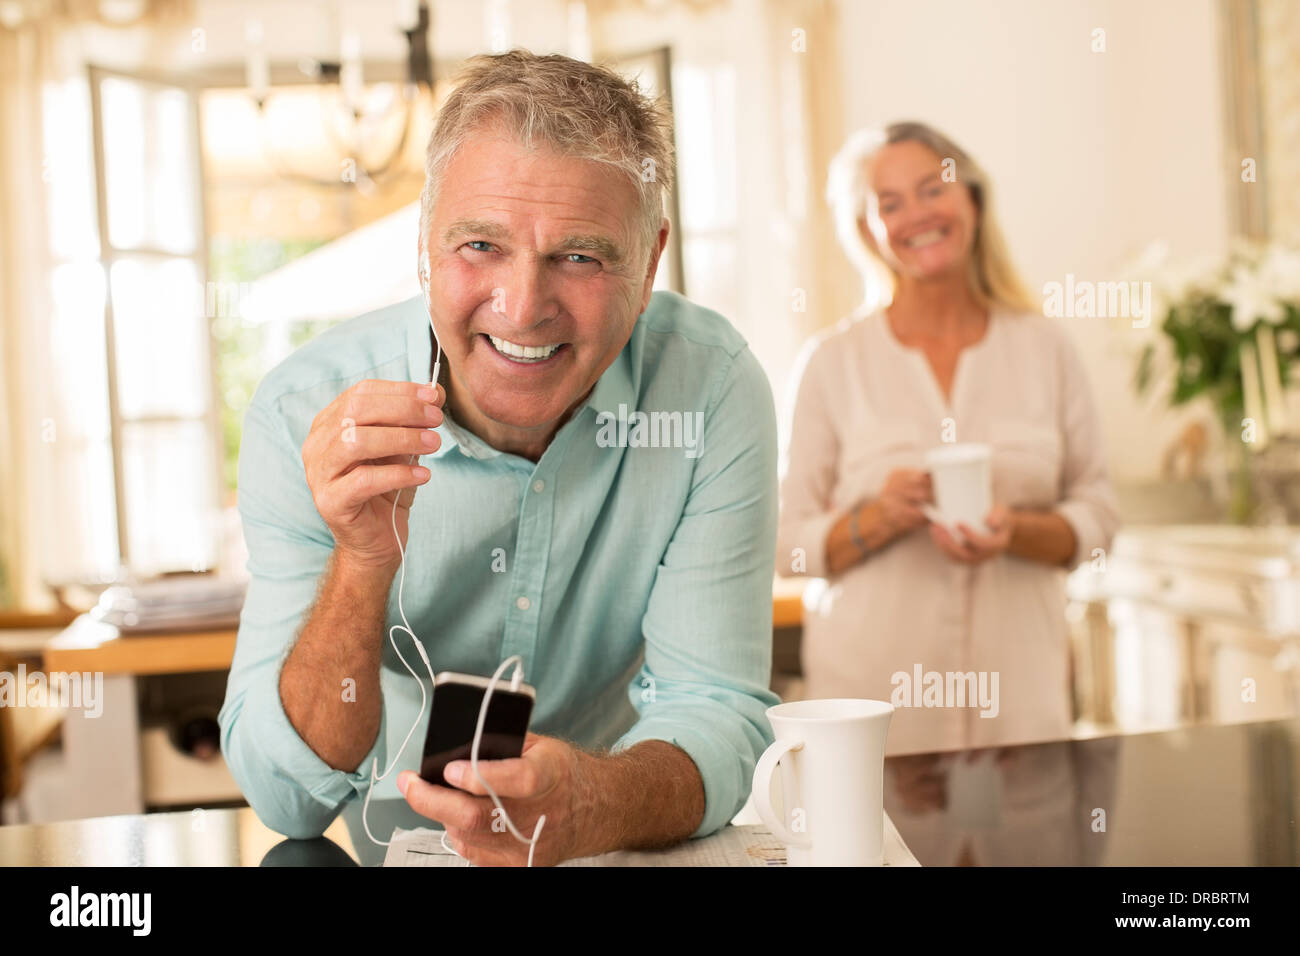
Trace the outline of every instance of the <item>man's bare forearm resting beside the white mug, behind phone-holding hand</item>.
{"label": "man's bare forearm resting beside the white mug, behind phone-holding hand", "polygon": [[581,856],[670,847],[705,818],[705,782],[685,750],[642,740],[615,754],[580,752],[592,795],[590,834]]}

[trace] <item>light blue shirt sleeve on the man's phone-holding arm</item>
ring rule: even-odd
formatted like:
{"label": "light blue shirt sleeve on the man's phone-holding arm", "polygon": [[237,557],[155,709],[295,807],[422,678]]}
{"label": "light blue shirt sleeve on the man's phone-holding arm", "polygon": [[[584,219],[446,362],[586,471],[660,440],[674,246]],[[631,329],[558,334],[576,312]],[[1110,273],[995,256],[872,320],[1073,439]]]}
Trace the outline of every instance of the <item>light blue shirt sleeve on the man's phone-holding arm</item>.
{"label": "light blue shirt sleeve on the man's phone-holding arm", "polygon": [[690,493],[642,619],[645,663],[629,687],[638,719],[614,745],[668,740],[694,761],[705,816],[724,826],[772,743],[776,414],[753,354],[736,354],[705,416]]}

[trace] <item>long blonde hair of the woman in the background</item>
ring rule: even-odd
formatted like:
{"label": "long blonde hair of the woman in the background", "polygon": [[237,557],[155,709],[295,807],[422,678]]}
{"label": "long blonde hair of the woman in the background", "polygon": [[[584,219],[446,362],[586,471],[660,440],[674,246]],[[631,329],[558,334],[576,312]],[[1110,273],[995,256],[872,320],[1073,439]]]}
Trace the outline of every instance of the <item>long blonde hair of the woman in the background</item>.
{"label": "long blonde hair of the woman in the background", "polygon": [[965,183],[975,203],[975,241],[971,247],[967,281],[982,306],[1002,306],[1015,311],[1041,313],[1020,280],[1008,251],[1002,230],[993,215],[988,174],[970,153],[932,126],[923,122],[894,122],[883,129],[854,133],[831,160],[827,176],[827,202],[835,212],[836,233],[850,261],[862,273],[864,298],[884,304],[893,295],[898,276],[862,235],[858,220],[866,213],[867,163],[881,147],[893,143],[920,143],[936,156],[952,159],[957,182]]}

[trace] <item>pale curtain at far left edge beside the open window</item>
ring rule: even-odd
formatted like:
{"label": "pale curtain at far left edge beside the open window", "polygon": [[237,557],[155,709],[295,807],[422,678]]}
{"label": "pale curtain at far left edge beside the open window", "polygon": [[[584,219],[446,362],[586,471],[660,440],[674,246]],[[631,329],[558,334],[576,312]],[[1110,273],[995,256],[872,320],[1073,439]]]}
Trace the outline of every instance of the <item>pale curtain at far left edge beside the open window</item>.
{"label": "pale curtain at far left edge beside the open window", "polygon": [[[103,312],[77,304],[98,295],[90,280],[99,274],[87,64],[164,61],[176,31],[188,35],[194,4],[147,0],[130,21],[107,18],[95,0],[18,3],[8,13],[0,22],[0,607],[42,611],[56,605],[51,583],[90,583],[87,568],[103,566],[103,533],[92,528],[103,524],[105,496],[112,507],[112,490],[98,489],[104,476],[87,473],[79,453],[87,410],[107,401]],[[60,311],[78,324],[75,351],[51,347]]]}

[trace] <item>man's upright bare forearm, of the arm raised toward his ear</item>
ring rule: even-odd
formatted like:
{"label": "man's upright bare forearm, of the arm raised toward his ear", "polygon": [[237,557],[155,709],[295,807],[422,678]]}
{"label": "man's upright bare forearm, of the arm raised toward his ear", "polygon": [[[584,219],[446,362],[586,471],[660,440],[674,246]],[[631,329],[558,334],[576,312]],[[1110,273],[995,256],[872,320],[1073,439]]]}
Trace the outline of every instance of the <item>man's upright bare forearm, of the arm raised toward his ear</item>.
{"label": "man's upright bare forearm, of the arm raised toward his ear", "polygon": [[[380,658],[391,584],[389,570],[355,567],[332,555],[280,672],[285,715],[335,770],[356,770],[380,731]],[[354,683],[346,684],[348,679]]]}

